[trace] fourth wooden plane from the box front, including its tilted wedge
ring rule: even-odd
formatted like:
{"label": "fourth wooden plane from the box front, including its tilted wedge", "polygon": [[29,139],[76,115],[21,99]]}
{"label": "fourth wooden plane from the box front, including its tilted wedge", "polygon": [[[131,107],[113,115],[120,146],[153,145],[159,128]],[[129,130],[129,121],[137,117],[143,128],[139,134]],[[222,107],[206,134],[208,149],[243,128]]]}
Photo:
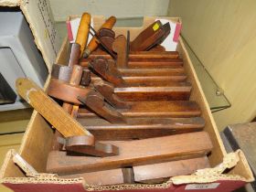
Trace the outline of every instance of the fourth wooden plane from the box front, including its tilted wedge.
{"label": "fourth wooden plane from the box front, including its tilted wedge", "polygon": [[[114,94],[111,83],[98,81],[93,84],[96,91],[101,92],[118,112],[125,117],[193,117],[201,114],[195,101],[122,101]],[[93,117],[93,113],[80,109],[80,117]]]}

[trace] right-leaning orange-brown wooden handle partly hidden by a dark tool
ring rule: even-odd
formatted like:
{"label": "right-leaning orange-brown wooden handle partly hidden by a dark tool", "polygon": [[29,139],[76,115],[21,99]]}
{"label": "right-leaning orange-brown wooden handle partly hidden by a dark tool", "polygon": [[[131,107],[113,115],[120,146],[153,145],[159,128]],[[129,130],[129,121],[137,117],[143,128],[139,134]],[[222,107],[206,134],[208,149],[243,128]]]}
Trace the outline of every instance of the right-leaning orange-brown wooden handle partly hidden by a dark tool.
{"label": "right-leaning orange-brown wooden handle partly hidden by a dark tool", "polygon": [[[109,28],[109,29],[112,29],[112,27],[114,26],[114,24],[115,24],[115,22],[116,22],[116,17],[115,16],[111,16],[111,17],[109,17],[107,20],[106,20],[106,22],[101,26],[101,28]],[[100,28],[100,29],[101,29]],[[90,54],[91,54],[91,52],[93,51],[93,50],[95,50],[96,48],[98,48],[98,42],[97,42],[97,38],[96,37],[92,37],[91,38],[91,41],[90,41],[90,43],[88,44],[88,47],[85,49],[85,51],[84,51],[84,55],[83,55],[83,57],[84,58],[87,58]]]}

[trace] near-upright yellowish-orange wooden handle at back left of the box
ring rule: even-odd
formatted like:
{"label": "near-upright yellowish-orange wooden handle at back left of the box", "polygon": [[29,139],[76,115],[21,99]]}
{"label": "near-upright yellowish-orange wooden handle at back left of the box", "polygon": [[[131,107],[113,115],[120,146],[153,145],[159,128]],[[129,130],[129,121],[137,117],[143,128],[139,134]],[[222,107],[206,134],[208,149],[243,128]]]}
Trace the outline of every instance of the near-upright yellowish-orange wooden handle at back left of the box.
{"label": "near-upright yellowish-orange wooden handle at back left of the box", "polygon": [[80,18],[80,27],[78,29],[76,43],[80,44],[80,57],[86,47],[89,30],[91,25],[91,15],[84,13]]}

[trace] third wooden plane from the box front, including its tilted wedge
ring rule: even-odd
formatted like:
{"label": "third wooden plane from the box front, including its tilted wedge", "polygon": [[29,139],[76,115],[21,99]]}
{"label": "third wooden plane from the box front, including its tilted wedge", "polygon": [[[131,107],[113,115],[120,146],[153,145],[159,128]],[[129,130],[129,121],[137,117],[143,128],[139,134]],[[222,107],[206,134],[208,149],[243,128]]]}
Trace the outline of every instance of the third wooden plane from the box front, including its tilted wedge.
{"label": "third wooden plane from the box front, including its tilted wedge", "polygon": [[[195,132],[202,130],[205,124],[201,117],[128,118],[103,101],[103,98],[97,94],[88,95],[87,98],[79,98],[79,100],[89,107],[91,111],[106,120],[98,118],[89,121],[87,119],[82,123],[89,130],[93,130],[93,133],[97,134],[97,136],[101,136],[101,140],[141,139],[155,137],[159,134],[162,136],[174,133]],[[81,122],[83,119],[79,121]],[[148,132],[149,130],[151,131]]]}

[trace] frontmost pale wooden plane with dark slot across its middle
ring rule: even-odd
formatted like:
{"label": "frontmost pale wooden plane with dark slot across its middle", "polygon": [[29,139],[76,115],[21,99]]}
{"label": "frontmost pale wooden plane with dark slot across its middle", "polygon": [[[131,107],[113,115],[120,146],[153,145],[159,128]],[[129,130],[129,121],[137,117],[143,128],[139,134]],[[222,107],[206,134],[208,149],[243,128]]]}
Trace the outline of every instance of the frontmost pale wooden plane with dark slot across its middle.
{"label": "frontmost pale wooden plane with dark slot across its middle", "polygon": [[108,186],[135,182],[155,184],[163,183],[172,176],[186,176],[195,173],[198,169],[208,167],[210,167],[208,158],[204,156],[160,164],[137,165],[133,167],[117,168],[61,177],[83,177],[87,184],[93,186]]}

